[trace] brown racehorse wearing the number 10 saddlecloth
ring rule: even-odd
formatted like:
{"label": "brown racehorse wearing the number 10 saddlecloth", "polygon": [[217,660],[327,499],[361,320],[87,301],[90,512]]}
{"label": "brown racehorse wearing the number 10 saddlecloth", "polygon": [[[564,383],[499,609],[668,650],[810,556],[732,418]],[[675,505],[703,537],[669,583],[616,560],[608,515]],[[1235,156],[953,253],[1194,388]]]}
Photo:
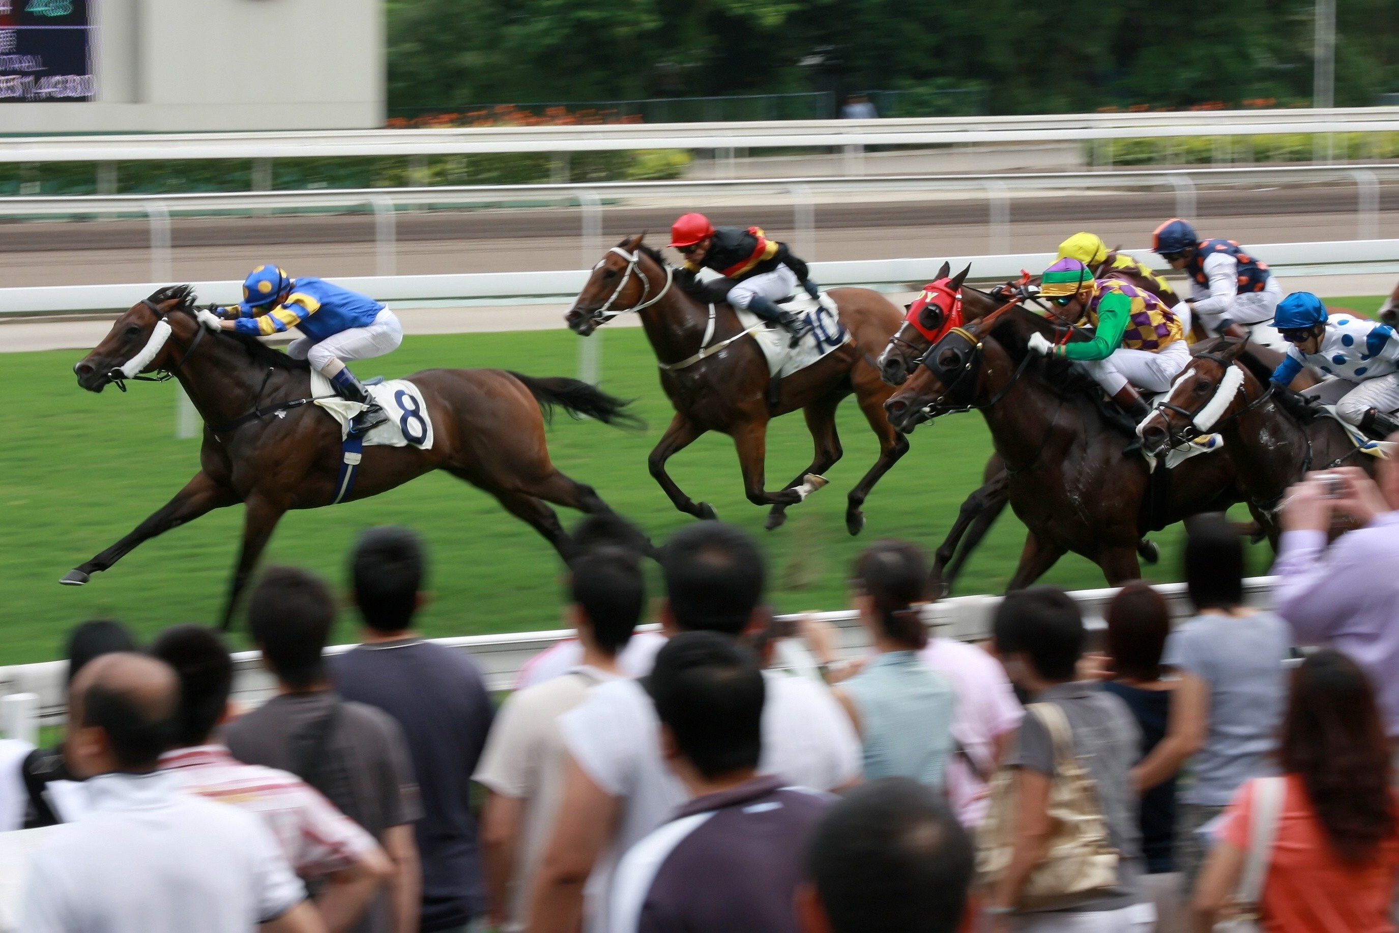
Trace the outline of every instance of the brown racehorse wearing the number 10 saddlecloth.
{"label": "brown racehorse wearing the number 10 saddlecloth", "polygon": [[[898,327],[898,308],[867,288],[832,290],[830,295],[853,341],[782,379],[781,396],[769,408],[767,359],[755,340],[740,339],[744,330],[737,315],[719,304],[711,318],[709,305],[674,284],[674,270],[659,252],[642,245],[642,236],[628,236],[603,256],[565,320],[586,336],[617,313],[641,316],[660,364],[660,386],[676,408],[670,427],[651,452],[651,476],[681,512],[715,518],[708,502],[693,501],[676,485],[666,473],[666,460],[708,431],[727,434],[739,452],[748,501],[772,506],[767,527],[775,529],[786,520],[786,508],[811,491],[807,474],[820,476],[841,459],[835,408],[855,393],[880,443],[879,460],[851,490],[845,509],[845,527],[859,534],[865,527],[860,505],[874,483],[908,450],[908,439],[884,417],[883,404],[891,389],[872,364],[872,354]],[[768,421],[797,408],[806,413],[816,456],[782,490],[769,492],[764,488]]]}

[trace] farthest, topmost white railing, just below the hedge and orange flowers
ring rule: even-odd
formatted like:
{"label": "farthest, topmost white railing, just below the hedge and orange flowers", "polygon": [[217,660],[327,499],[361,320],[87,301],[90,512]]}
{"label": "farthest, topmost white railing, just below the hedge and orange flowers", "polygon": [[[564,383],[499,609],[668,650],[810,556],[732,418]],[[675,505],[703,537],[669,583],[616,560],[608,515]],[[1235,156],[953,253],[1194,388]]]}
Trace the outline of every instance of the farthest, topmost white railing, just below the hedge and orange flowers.
{"label": "farthest, topmost white railing, just below the hedge and orange flowers", "polygon": [[630,123],[287,133],[150,133],[0,140],[0,162],[736,150],[844,145],[1053,143],[1191,136],[1273,136],[1399,130],[1399,108],[1216,111],[1051,116]]}

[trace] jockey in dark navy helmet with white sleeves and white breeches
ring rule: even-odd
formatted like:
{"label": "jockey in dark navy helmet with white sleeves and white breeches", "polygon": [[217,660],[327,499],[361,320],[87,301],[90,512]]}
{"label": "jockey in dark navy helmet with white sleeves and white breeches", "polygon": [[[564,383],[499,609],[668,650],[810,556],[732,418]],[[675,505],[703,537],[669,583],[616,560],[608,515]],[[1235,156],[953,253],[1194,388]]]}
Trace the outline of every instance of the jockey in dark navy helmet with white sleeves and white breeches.
{"label": "jockey in dark navy helmet with white sleeves and white breeches", "polygon": [[1267,263],[1249,256],[1233,239],[1202,241],[1178,217],[1156,228],[1151,252],[1191,277],[1193,295],[1185,301],[1210,333],[1233,337],[1247,333],[1256,344],[1287,350],[1269,326],[1283,290]]}

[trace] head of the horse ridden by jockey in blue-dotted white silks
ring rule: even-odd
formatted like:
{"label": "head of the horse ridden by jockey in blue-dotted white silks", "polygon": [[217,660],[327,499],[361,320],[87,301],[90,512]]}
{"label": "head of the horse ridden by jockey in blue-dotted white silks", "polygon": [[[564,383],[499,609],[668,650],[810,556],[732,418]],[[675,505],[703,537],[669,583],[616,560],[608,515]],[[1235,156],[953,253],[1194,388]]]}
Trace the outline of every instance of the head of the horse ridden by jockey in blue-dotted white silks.
{"label": "head of the horse ridden by jockey in blue-dotted white silks", "polygon": [[1245,404],[1248,373],[1238,355],[1248,337],[1217,337],[1195,347],[1191,362],[1171,383],[1171,394],[1137,425],[1142,446],[1153,456],[1207,434]]}

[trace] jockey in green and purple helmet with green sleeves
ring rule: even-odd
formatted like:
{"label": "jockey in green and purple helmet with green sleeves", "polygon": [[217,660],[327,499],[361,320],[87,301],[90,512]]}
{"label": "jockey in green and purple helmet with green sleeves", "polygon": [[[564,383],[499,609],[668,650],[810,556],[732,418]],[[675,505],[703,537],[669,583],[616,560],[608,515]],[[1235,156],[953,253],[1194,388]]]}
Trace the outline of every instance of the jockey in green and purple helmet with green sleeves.
{"label": "jockey in green and purple helmet with green sleeves", "polygon": [[1093,340],[1049,343],[1030,336],[1030,350],[1079,362],[1130,418],[1140,424],[1150,406],[1136,390],[1165,392],[1191,362],[1181,319],[1156,295],[1121,278],[1094,280],[1077,259],[1060,259],[1045,270],[1039,297],[1063,311],[1055,316],[1087,323]]}

